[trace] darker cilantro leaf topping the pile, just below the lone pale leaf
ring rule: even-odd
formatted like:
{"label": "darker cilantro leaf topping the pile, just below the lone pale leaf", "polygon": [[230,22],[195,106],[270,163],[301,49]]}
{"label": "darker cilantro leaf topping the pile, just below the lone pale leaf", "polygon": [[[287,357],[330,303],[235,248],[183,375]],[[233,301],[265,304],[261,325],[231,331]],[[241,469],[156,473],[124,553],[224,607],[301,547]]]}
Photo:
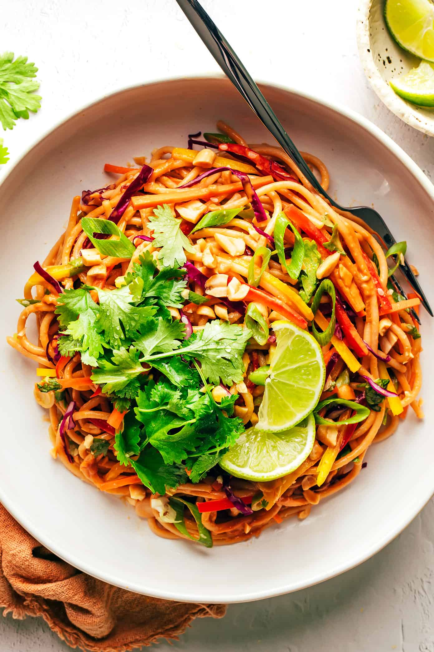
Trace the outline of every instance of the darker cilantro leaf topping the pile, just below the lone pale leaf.
{"label": "darker cilantro leaf topping the pile, just below the lone pale leaf", "polygon": [[128,284],[135,277],[143,281],[142,297],[156,297],[164,306],[181,308],[183,305],[182,291],[187,286],[185,269],[170,269],[165,267],[154,276],[157,265],[151,254],[146,251],[139,257],[139,263],[134,263],[133,273],[125,276]]}

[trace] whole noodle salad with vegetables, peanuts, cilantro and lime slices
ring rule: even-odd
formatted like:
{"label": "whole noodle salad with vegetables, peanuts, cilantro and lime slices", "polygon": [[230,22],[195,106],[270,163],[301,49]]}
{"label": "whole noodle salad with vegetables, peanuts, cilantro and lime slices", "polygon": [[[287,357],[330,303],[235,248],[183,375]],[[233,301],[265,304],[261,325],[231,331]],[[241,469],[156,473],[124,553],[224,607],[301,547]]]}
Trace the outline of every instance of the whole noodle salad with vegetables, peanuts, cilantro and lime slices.
{"label": "whole noodle salad with vegetables, peanuts, cilantro and lime slices", "polygon": [[385,251],[280,149],[217,128],[105,165],[117,180],[74,198],[8,338],[38,363],[53,457],[208,548],[306,518],[423,417],[420,299],[392,276],[406,244]]}

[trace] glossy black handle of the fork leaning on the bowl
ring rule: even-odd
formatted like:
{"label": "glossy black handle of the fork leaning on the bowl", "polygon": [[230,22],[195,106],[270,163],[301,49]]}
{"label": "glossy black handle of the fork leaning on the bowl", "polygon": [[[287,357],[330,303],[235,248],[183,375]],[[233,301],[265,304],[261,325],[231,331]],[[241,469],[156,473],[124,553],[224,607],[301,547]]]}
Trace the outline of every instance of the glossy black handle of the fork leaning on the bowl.
{"label": "glossy black handle of the fork leaning on the bowl", "polygon": [[321,188],[318,179],[316,179],[303,159],[303,156],[301,156],[297,147],[295,147],[293,141],[280,124],[275,112],[267,100],[265,100],[264,95],[262,95],[258,86],[249,75],[249,72],[247,72],[234,50],[228,44],[226,38],[224,38],[204,8],[201,7],[197,0],[176,1],[224,74],[234,84],[239,94],[249,104],[252,111],[256,113],[262,124],[271,132],[280,147],[292,158],[293,162],[303,172],[312,186],[331,201],[332,205],[336,205],[323,188]]}

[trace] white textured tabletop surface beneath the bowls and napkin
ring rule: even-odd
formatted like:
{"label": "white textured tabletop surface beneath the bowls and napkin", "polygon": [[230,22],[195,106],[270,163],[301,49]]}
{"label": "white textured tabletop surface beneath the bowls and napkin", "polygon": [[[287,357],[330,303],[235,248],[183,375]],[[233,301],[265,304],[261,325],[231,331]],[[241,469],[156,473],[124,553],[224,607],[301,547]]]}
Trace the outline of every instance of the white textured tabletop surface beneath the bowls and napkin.
{"label": "white textured tabletop surface beneath the bowls and napkin", "polygon": [[[434,140],[394,117],[364,78],[356,0],[204,0],[204,6],[254,77],[343,102],[383,128],[433,177]],[[2,7],[2,22],[1,49],[29,55],[42,80],[40,113],[2,134],[11,162],[65,113],[102,93],[149,76],[217,69],[174,0],[131,0],[124,7],[115,0],[15,0]],[[359,568],[286,597],[231,606],[224,621],[197,621],[174,647],[157,649],[434,652],[433,516],[431,501]],[[0,619],[1,652],[61,649],[68,647],[39,619]]]}

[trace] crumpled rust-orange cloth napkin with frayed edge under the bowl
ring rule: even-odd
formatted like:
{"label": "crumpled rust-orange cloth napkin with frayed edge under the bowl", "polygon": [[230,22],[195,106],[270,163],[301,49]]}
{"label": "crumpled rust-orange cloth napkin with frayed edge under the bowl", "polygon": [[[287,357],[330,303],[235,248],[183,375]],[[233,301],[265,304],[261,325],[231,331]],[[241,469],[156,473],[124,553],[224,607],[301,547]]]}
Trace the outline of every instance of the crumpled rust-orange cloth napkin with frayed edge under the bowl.
{"label": "crumpled rust-orange cloth napkin with frayed edge under the bowl", "polygon": [[137,595],[77,571],[41,546],[0,505],[0,607],[40,615],[71,647],[126,652],[177,638],[195,618],[221,618],[223,604]]}

